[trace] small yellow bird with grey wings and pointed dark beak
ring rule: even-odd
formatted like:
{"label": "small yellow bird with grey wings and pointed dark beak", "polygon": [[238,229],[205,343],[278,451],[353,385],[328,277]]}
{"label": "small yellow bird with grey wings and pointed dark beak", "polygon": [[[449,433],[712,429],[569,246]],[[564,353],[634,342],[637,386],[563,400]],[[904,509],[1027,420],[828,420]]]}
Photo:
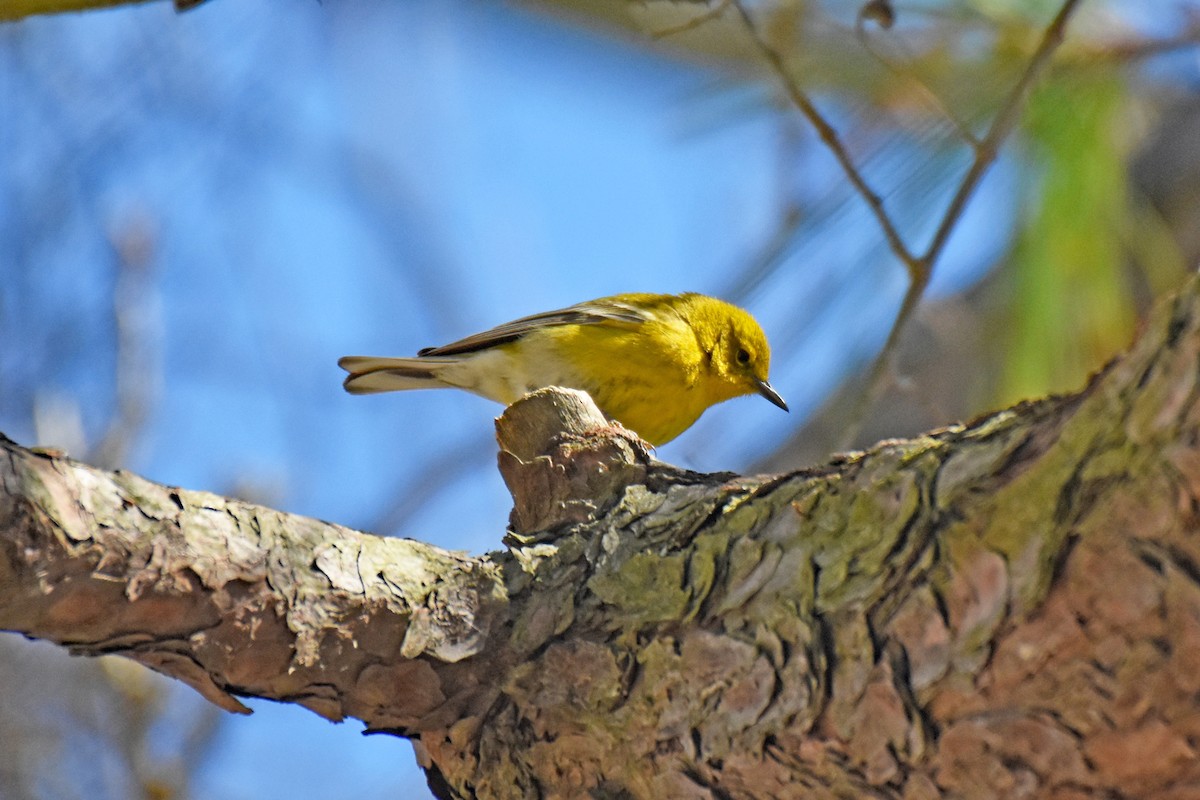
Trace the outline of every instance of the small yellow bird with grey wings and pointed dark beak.
{"label": "small yellow bird with grey wings and pointed dark beak", "polygon": [[696,293],[619,294],[522,317],[413,357],[344,356],[352,395],[457,387],[510,405],[546,386],[586,391],[608,420],[664,445],[710,405],[761,395],[770,347],[743,308]]}

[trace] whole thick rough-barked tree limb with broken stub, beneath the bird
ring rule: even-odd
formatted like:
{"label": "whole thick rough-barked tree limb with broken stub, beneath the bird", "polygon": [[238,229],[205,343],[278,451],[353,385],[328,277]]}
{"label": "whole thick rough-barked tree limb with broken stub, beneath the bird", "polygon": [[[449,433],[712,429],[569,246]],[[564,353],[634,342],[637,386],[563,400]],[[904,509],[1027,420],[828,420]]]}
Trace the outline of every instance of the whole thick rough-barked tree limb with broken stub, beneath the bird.
{"label": "whole thick rough-barked tree limb with broken stub, beneath the bird", "polygon": [[1192,281],[1076,395],[751,477],[539,392],[481,558],[5,440],[0,627],[409,736],[444,796],[1198,796],[1198,372]]}

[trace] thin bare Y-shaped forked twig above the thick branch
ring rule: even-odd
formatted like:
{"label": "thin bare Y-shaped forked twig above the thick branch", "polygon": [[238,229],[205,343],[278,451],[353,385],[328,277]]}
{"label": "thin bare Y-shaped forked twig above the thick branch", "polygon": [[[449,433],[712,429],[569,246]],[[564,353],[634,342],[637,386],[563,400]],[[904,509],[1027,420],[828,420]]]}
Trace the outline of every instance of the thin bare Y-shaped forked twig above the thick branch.
{"label": "thin bare Y-shaped forked twig above the thick branch", "polygon": [[750,16],[749,11],[746,11],[742,0],[732,0],[732,2],[733,7],[737,8],[738,13],[742,16],[745,28],[763,59],[770,65],[772,70],[779,77],[788,97],[816,130],[817,136],[826,144],[826,146],[829,148],[830,152],[833,152],[838,163],[841,164],[842,170],[846,173],[851,185],[853,185],[854,190],[863,197],[866,205],[870,207],[871,213],[878,221],[892,252],[900,259],[900,261],[905,265],[905,269],[908,271],[908,290],[905,293],[904,301],[900,303],[900,311],[893,320],[887,342],[871,365],[868,373],[868,384],[864,391],[858,395],[858,399],[851,410],[847,425],[842,428],[842,441],[839,443],[839,446],[846,447],[857,437],[868,410],[871,405],[874,405],[877,395],[882,389],[883,378],[887,374],[888,365],[890,363],[893,354],[895,353],[896,345],[900,341],[900,335],[904,331],[905,325],[912,318],[913,312],[920,305],[920,299],[924,295],[932,276],[934,264],[946,248],[946,242],[949,240],[950,233],[953,233],[954,227],[961,218],[967,200],[971,199],[971,196],[979,186],[979,181],[988,172],[988,168],[996,161],[1000,145],[1003,143],[1006,137],[1008,137],[1016,124],[1030,88],[1044,71],[1055,49],[1057,49],[1057,47],[1062,43],[1067,28],[1067,20],[1079,6],[1080,0],[1063,1],[1058,13],[1043,32],[1042,41],[1038,44],[1037,50],[1034,50],[1028,65],[1018,79],[1016,85],[1013,86],[1013,90],[1004,100],[986,134],[977,143],[968,140],[973,146],[974,158],[972,158],[970,168],[967,168],[966,174],[962,176],[962,182],[959,185],[958,191],[950,199],[949,205],[947,205],[946,212],[942,215],[942,219],[938,223],[928,248],[919,257],[914,255],[913,252],[908,249],[904,239],[896,230],[895,223],[883,207],[882,199],[866,184],[862,173],[859,173],[853,160],[850,157],[845,145],[841,143],[841,139],[838,137],[836,131],[832,125],[829,125],[821,112],[817,110],[816,106],[804,90],[796,83],[791,72],[787,70],[784,58],[762,37],[754,18]]}

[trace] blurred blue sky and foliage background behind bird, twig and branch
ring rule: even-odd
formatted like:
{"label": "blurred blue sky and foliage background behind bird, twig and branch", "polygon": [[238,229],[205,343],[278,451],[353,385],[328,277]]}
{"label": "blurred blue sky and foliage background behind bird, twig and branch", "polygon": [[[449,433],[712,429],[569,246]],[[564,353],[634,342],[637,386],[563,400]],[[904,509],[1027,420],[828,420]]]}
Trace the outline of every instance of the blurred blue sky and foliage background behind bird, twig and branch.
{"label": "blurred blue sky and foliage background behind bird, twig and branch", "polygon": [[[890,28],[886,5],[752,7],[920,251],[1058,4],[900,2]],[[658,455],[786,470],[851,427],[864,446],[1078,389],[1200,261],[1200,4],[1084,4],[848,419],[906,272],[738,16],[689,25],[719,7],[0,24],[0,432],[481,553],[510,507],[499,407],[350,397],[338,356],[605,294],[720,295],[763,323],[792,414],[732,401]],[[0,798],[430,796],[403,740],[251,705],[0,636]]]}

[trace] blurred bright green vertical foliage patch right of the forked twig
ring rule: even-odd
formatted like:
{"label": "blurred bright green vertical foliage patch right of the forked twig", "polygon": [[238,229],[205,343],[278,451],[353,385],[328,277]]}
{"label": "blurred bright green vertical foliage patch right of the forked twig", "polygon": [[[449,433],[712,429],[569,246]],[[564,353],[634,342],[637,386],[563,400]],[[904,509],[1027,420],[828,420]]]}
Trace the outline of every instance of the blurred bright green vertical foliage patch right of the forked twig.
{"label": "blurred bright green vertical foliage patch right of the forked twig", "polygon": [[1142,122],[1135,92],[1122,74],[1088,68],[1030,98],[1027,207],[1003,272],[1001,404],[1080,386],[1129,343],[1139,284],[1162,283],[1150,272],[1163,260],[1162,229],[1128,170]]}

